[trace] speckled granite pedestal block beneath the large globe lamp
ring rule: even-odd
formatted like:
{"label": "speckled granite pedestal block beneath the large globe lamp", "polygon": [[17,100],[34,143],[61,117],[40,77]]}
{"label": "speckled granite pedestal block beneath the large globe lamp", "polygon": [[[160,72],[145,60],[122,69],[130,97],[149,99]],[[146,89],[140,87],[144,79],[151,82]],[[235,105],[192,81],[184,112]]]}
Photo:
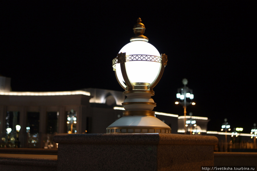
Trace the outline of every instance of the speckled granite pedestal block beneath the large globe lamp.
{"label": "speckled granite pedestal block beneath the large globe lamp", "polygon": [[213,136],[58,134],[58,170],[200,170],[214,165]]}

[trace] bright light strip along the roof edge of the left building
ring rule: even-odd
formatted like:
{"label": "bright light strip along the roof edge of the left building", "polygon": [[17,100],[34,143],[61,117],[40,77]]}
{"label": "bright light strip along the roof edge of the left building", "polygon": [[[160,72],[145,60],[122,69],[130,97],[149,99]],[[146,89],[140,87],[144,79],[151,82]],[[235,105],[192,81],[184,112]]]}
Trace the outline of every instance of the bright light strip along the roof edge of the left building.
{"label": "bright light strip along the roof edge of the left building", "polygon": [[51,92],[18,92],[18,91],[10,91],[3,92],[0,91],[0,95],[88,95],[90,96],[90,92],[87,91],[51,91]]}

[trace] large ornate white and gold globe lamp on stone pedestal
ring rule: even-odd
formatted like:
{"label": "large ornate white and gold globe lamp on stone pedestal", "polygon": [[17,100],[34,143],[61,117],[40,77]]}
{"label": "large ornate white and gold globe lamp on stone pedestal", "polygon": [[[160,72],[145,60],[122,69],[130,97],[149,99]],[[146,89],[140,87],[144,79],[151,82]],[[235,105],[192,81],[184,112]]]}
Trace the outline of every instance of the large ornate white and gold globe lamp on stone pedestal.
{"label": "large ornate white and gold globe lamp on stone pedestal", "polygon": [[107,133],[170,133],[170,127],[155,117],[152,110],[156,103],[151,98],[167,65],[167,56],[148,43],[140,18],[133,30],[135,36],[113,59],[113,70],[127,98],[122,103],[123,117],[109,125]]}

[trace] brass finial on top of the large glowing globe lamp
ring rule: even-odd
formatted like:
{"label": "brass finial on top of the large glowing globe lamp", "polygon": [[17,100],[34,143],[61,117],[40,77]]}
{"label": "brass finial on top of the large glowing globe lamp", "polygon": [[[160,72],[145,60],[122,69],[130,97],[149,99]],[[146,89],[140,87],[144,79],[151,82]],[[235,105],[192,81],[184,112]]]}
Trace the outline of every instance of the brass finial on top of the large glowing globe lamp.
{"label": "brass finial on top of the large glowing globe lamp", "polygon": [[144,27],[144,24],[141,23],[142,20],[140,18],[138,18],[136,22],[137,23],[134,25],[134,28],[133,28],[135,36],[130,38],[130,42],[133,42],[133,41],[145,41],[145,42],[148,42],[148,38],[143,35],[145,27]]}

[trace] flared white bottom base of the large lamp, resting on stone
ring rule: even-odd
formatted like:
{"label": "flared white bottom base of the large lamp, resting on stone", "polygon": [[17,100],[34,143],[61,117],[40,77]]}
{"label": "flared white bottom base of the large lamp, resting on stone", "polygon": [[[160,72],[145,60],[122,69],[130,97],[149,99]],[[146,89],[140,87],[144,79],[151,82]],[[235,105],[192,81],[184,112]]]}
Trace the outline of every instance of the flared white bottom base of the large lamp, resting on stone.
{"label": "flared white bottom base of the large lamp, resting on stone", "polygon": [[171,133],[168,125],[154,116],[123,116],[106,129],[107,133]]}

